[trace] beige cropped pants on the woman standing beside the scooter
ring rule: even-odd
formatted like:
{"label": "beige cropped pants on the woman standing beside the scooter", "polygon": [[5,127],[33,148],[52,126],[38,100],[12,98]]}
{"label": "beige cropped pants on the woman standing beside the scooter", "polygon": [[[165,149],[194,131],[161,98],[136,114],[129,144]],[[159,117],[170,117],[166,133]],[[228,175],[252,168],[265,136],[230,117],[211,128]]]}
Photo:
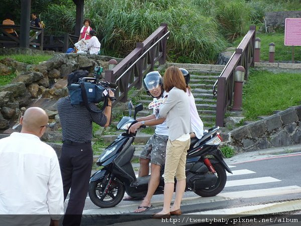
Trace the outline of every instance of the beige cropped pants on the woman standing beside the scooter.
{"label": "beige cropped pants on the woman standing beside the scooter", "polygon": [[177,181],[186,179],[185,165],[189,146],[190,139],[187,141],[168,140],[164,169],[164,182],[166,184],[175,183],[175,176]]}

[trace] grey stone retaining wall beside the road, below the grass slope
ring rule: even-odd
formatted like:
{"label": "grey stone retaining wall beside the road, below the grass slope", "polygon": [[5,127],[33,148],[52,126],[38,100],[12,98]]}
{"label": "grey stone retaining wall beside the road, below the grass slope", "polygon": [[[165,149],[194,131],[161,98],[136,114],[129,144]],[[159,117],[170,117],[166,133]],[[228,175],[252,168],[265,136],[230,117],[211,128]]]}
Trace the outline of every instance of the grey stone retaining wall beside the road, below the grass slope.
{"label": "grey stone retaining wall beside the road, below the grass slope", "polygon": [[232,130],[224,144],[238,152],[301,143],[301,105]]}

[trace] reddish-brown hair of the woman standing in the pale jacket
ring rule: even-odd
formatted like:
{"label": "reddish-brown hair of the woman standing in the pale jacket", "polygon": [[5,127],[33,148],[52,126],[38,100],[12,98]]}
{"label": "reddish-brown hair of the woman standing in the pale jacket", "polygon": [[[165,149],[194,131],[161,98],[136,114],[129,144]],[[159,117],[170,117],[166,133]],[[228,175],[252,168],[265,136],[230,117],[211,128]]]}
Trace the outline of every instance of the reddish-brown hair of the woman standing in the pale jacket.
{"label": "reddish-brown hair of the woman standing in the pale jacket", "polygon": [[171,66],[167,68],[164,73],[163,79],[164,89],[167,92],[169,92],[174,87],[182,89],[184,92],[186,92],[185,78],[178,67]]}

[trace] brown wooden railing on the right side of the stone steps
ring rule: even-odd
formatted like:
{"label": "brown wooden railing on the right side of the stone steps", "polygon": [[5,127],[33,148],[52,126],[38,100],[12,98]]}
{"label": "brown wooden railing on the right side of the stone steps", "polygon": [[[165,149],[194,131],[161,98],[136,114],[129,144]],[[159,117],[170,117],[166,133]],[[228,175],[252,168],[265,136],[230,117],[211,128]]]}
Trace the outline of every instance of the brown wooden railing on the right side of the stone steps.
{"label": "brown wooden railing on the right side of the stone steps", "polygon": [[220,74],[217,80],[217,91],[216,84],[213,86],[213,94],[217,92],[216,126],[224,126],[225,112],[227,107],[232,105],[235,68],[243,66],[245,68],[244,80],[248,80],[248,69],[254,66],[255,34],[256,27],[251,26]]}

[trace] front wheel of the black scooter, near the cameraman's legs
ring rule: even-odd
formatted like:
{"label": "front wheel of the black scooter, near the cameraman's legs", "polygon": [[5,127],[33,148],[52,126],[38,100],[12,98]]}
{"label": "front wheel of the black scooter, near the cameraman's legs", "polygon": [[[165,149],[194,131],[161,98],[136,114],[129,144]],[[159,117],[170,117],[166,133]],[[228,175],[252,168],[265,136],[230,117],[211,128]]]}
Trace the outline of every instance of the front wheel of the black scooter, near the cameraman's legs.
{"label": "front wheel of the black scooter, near the cameraman's legs", "polygon": [[89,184],[89,197],[95,205],[101,208],[117,205],[124,195],[124,185],[116,178],[110,179],[109,176]]}

